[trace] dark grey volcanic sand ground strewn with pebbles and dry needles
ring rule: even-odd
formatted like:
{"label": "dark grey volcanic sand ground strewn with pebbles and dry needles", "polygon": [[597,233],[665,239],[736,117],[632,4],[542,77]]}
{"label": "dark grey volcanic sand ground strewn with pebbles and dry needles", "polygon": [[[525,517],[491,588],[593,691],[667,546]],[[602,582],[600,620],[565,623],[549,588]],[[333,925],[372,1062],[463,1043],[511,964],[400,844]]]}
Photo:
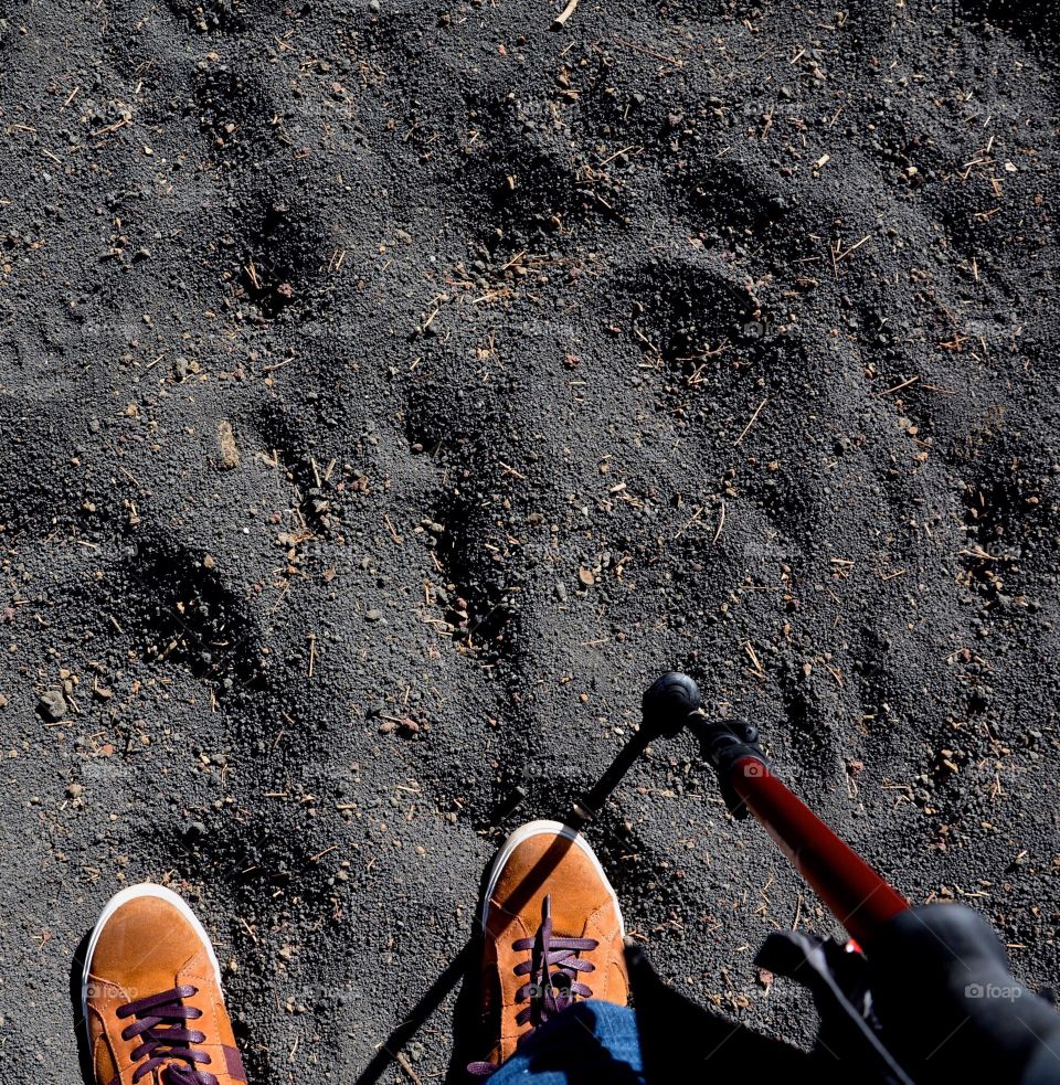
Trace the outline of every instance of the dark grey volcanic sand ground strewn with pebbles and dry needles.
{"label": "dark grey volcanic sand ground strewn with pebbles and dry needles", "polygon": [[[1056,982],[1051,4],[2,9],[0,1045],[34,1082],[74,1078],[72,955],[141,879],[232,961],[254,1082],[351,1082],[674,667]],[[808,1042],[752,951],[834,924],[690,742],[591,839],[664,977]]]}

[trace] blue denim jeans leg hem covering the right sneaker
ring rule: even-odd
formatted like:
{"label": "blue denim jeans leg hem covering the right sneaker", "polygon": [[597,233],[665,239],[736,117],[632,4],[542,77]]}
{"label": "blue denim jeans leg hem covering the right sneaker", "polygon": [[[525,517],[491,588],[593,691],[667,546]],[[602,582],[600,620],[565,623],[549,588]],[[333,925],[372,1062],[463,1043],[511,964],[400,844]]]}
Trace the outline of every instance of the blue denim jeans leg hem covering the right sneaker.
{"label": "blue denim jeans leg hem covering the right sneaker", "polygon": [[637,1019],[611,1002],[579,1002],[547,1021],[489,1085],[645,1085]]}

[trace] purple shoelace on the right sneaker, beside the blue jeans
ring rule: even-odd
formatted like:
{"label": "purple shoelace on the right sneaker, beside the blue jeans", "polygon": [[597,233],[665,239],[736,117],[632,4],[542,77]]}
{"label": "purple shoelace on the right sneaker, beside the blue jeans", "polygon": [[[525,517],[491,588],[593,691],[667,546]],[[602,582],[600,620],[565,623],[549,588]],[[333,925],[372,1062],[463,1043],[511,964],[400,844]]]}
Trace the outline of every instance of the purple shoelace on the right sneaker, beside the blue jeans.
{"label": "purple shoelace on the right sneaker, beside the blue jeans", "polygon": [[[511,944],[517,953],[529,953],[530,959],[516,965],[517,976],[529,979],[516,991],[516,1001],[529,1001],[516,1015],[517,1024],[531,1024],[531,1032],[549,1018],[565,1010],[576,996],[592,998],[592,990],[579,979],[580,972],[595,971],[595,966],[577,955],[595,949],[595,938],[564,938],[552,933],[552,897],[541,905],[541,926],[532,938],[519,938]],[[530,1033],[527,1033],[529,1035]],[[522,1036],[522,1043],[527,1039]],[[488,1062],[471,1063],[467,1070],[476,1077],[488,1077],[498,1067]]]}

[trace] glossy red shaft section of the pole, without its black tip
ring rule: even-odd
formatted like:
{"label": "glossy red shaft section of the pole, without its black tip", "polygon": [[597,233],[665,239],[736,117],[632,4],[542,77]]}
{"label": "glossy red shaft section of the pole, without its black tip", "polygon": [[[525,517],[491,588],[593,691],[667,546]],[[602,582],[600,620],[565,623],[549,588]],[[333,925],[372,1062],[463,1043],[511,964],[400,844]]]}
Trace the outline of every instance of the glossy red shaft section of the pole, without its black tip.
{"label": "glossy red shaft section of the pole, without its black tip", "polygon": [[865,949],[909,902],[755,757],[741,757],[729,786],[794,868]]}

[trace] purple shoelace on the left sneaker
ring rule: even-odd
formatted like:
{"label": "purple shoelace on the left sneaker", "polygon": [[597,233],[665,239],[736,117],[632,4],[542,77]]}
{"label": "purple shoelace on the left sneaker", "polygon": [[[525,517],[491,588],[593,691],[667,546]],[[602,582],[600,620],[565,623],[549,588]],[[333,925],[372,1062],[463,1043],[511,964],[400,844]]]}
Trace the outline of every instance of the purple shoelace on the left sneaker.
{"label": "purple shoelace on the left sneaker", "polygon": [[197,987],[186,985],[118,1009],[119,1018],[135,1019],[121,1031],[121,1039],[140,1040],[140,1046],[132,1051],[132,1061],[144,1062],[132,1072],[134,1082],[165,1067],[166,1085],[218,1085],[213,1074],[197,1068],[198,1064],[209,1065],[211,1061],[204,1051],[194,1050],[195,1044],[205,1042],[205,1033],[184,1027],[184,1022],[202,1017],[202,1010],[184,1006],[184,999],[198,993]]}

